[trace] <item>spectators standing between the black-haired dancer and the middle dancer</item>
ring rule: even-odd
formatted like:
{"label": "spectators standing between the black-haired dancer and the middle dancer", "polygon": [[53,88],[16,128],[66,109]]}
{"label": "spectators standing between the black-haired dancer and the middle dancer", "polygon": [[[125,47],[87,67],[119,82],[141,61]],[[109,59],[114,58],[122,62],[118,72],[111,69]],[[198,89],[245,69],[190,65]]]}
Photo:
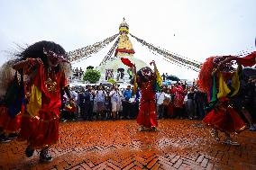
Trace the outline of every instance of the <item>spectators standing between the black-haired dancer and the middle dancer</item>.
{"label": "spectators standing between the black-haired dancer and the middle dancer", "polygon": [[[69,106],[66,95],[62,98],[62,121],[135,119],[138,114],[139,96],[134,98],[133,89],[119,89],[118,85],[86,85],[75,89],[71,95],[76,105]],[[74,109],[69,109],[74,108]]]}

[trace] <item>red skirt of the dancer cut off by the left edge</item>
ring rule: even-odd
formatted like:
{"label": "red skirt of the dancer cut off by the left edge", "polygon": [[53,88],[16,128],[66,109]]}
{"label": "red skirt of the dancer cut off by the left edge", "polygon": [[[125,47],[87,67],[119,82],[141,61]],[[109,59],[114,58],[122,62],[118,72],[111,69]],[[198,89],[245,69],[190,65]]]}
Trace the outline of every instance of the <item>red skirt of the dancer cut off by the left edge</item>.
{"label": "red skirt of the dancer cut off by the left edge", "polygon": [[0,127],[6,133],[19,132],[21,129],[22,112],[12,118],[9,116],[8,109],[5,106],[0,106]]}

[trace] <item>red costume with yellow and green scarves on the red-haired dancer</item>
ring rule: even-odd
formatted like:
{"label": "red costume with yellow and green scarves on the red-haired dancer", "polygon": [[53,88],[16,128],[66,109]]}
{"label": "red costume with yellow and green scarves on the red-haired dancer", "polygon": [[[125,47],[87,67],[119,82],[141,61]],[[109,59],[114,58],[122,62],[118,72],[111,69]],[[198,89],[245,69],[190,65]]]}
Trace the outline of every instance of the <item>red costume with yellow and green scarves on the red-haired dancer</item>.
{"label": "red costume with yellow and green scarves on the red-haired dancer", "polygon": [[[230,61],[236,60],[237,63],[243,66],[253,66],[255,64],[255,54],[253,52],[244,58],[212,57],[207,58],[203,64],[198,76],[198,84],[200,89],[205,91],[209,97],[212,96],[207,108],[210,112],[203,121],[214,129],[224,131],[227,134],[245,129],[245,123],[230,105],[230,99],[228,98],[237,94],[240,88],[238,76],[240,69],[232,72],[233,67]],[[218,69],[214,69],[215,67]],[[233,91],[227,85],[227,80],[231,80]]]}

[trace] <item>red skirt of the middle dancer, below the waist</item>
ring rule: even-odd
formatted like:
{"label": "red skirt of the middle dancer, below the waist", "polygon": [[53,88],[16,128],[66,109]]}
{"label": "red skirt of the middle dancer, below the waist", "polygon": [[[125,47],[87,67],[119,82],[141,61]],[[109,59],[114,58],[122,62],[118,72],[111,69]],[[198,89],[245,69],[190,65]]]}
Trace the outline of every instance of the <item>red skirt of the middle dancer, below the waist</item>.
{"label": "red skirt of the middle dancer, below the waist", "polygon": [[146,128],[158,126],[155,101],[141,103],[137,122]]}

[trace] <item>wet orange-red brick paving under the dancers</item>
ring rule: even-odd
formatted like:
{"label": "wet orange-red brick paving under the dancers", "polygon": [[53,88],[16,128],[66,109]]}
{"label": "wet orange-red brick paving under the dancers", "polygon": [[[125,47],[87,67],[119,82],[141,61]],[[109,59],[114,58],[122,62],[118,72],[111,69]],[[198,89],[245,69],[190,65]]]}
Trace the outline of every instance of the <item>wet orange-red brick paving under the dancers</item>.
{"label": "wet orange-red brick paving under the dancers", "polygon": [[[0,144],[0,169],[256,169],[256,133],[242,131],[242,146],[216,143],[201,121],[160,120],[139,132],[135,121],[60,123],[54,160],[24,156],[25,143]],[[224,137],[222,136],[224,139]]]}

